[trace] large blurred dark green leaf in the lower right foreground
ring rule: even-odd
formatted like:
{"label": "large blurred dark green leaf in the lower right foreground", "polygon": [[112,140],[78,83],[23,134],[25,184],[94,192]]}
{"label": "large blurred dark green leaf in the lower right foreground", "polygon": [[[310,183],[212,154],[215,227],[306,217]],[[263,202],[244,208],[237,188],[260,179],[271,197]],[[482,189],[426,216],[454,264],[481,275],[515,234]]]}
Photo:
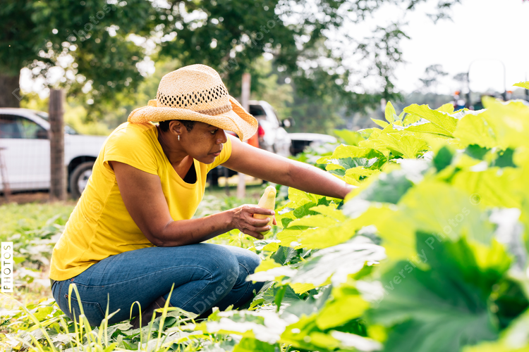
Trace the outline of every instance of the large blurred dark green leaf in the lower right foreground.
{"label": "large blurred dark green leaf in the lower right foreground", "polygon": [[429,236],[418,234],[418,252],[430,268],[402,261],[381,277],[384,294],[370,318],[390,327],[385,351],[459,351],[497,339],[488,300],[509,268],[509,256],[492,246],[485,251],[494,260],[483,267],[465,239],[432,249]]}

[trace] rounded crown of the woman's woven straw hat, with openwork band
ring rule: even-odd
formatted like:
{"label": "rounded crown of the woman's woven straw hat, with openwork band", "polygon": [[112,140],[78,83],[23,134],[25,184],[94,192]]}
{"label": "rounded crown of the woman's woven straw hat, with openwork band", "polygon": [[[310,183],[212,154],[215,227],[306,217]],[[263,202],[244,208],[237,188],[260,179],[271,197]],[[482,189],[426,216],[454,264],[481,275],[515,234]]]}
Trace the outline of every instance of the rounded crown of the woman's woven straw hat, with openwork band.
{"label": "rounded crown of the woman's woven straw hat, with openwork band", "polygon": [[231,110],[228,89],[217,71],[206,65],[189,65],[162,77],[157,106],[183,108],[219,115]]}

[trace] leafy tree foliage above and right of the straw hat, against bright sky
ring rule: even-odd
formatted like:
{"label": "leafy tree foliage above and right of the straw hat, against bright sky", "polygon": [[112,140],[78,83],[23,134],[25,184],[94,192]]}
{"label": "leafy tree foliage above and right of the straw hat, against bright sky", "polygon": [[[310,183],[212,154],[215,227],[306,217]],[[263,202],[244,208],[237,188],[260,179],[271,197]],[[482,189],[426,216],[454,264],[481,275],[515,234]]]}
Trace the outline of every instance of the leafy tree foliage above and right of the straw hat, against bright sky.
{"label": "leafy tree foliage above and right of the straw hat, against bright sky", "polygon": [[[412,11],[430,0],[231,0],[175,1],[175,21],[164,27],[160,55],[178,58],[183,64],[207,63],[217,68],[231,92],[239,92],[243,72],[252,74],[252,89],[262,78],[252,67],[263,53],[273,56],[280,72],[291,77],[297,94],[319,101],[329,96],[349,111],[376,106],[380,99],[397,99],[393,71],[402,61],[399,42],[406,38],[401,23],[377,27],[372,37],[358,38],[342,33],[339,49],[325,44],[329,32],[347,23],[361,23],[384,4],[405,6]],[[433,20],[446,18],[459,0],[442,0]],[[360,54],[365,68],[348,67],[343,59],[351,51]],[[360,76],[351,80],[353,74]],[[379,77],[381,91],[352,92],[367,76]]]}

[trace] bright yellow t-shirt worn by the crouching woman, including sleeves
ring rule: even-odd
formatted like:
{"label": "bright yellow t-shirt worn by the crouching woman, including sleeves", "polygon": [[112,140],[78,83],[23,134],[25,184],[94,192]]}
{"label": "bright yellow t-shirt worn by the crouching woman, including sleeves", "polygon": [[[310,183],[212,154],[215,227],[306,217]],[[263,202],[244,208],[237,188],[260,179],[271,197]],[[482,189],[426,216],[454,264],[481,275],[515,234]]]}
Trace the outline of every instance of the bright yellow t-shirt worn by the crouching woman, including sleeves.
{"label": "bright yellow t-shirt worn by the crouching woman, including sleeves", "polygon": [[49,277],[70,279],[109,256],[154,246],[130,217],[109,161],[158,175],[171,218],[177,221],[193,217],[204,196],[207,172],[230,155],[228,138],[213,163],[194,161],[197,181],[188,184],[169,163],[158,142],[156,125],[125,122],[117,127],[99,152],[86,189],[54,247]]}

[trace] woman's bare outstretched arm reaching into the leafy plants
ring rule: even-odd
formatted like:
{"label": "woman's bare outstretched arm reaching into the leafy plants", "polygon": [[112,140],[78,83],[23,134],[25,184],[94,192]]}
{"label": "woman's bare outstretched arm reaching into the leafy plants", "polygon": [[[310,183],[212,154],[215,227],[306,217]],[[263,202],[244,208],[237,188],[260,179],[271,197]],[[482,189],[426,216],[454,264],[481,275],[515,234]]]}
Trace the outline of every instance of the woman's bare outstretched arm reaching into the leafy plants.
{"label": "woman's bare outstretched arm reaching into the leafy plants", "polygon": [[222,164],[226,168],[261,180],[340,199],[355,188],[315,166],[269,153],[230,137],[231,156]]}

